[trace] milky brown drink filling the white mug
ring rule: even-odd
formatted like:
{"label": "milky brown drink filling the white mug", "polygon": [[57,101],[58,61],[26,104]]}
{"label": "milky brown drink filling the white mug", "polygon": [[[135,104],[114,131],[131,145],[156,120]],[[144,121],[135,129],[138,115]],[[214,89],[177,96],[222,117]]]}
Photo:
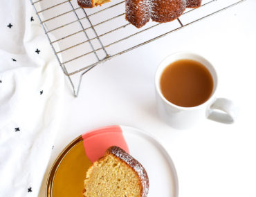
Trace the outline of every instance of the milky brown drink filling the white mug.
{"label": "milky brown drink filling the white mug", "polygon": [[165,68],[160,80],[163,96],[172,104],[192,107],[207,101],[213,90],[208,68],[191,59],[181,59]]}

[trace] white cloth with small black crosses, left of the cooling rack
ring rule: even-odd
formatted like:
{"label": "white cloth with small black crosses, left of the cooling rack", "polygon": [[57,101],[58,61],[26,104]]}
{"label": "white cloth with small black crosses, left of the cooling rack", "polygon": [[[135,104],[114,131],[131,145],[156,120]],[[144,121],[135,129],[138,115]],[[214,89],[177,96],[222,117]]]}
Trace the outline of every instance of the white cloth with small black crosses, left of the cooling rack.
{"label": "white cloth with small black crosses, left of the cooling rack", "polygon": [[37,196],[62,114],[64,75],[28,0],[0,8],[0,196]]}

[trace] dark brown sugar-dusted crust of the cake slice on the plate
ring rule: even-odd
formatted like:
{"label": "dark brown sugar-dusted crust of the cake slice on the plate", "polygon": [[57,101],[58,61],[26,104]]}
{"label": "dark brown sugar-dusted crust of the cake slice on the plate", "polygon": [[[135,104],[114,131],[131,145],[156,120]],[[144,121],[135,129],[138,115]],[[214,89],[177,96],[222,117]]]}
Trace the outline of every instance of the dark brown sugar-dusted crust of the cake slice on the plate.
{"label": "dark brown sugar-dusted crust of the cake slice on the plate", "polygon": [[127,152],[120,149],[119,147],[110,147],[109,152],[123,160],[129,167],[134,169],[140,178],[140,182],[143,186],[143,195],[142,197],[146,197],[149,192],[149,178],[147,176],[147,172],[145,171],[143,165],[141,165],[137,160],[132,158]]}

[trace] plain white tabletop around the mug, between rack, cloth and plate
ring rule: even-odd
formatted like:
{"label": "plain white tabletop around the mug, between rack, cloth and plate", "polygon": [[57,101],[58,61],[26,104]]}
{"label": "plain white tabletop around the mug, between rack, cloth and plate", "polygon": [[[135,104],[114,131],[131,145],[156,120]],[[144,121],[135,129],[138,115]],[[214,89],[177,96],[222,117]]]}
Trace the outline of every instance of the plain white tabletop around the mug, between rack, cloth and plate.
{"label": "plain white tabletop around the mug, between rack, cloth and plate", "polygon": [[[159,62],[189,50],[214,64],[217,96],[239,106],[235,124],[204,120],[175,130],[156,111],[154,73]],[[48,171],[73,138],[100,126],[134,126],[167,149],[179,177],[179,196],[256,196],[256,1],[247,0],[146,46],[120,55],[84,76],[79,97],[66,80],[64,115]]]}

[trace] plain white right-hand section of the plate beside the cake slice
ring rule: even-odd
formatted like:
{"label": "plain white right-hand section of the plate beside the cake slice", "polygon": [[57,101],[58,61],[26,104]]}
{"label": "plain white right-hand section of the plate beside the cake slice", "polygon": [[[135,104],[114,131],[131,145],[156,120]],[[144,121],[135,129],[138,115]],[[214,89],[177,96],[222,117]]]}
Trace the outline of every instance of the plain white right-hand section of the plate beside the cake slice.
{"label": "plain white right-hand section of the plate beside the cake slice", "polygon": [[149,176],[148,197],[178,197],[179,185],[174,163],[163,146],[149,133],[120,126],[131,156],[136,158]]}

